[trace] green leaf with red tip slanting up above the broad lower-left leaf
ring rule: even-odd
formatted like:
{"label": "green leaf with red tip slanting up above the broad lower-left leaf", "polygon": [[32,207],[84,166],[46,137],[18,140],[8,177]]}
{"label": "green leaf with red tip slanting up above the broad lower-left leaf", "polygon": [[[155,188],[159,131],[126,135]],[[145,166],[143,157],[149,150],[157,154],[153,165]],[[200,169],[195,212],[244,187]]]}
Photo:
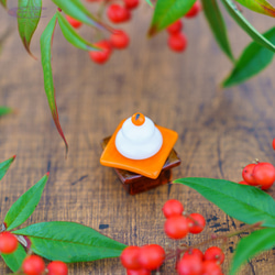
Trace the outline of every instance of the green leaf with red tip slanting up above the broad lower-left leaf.
{"label": "green leaf with red tip slanting up above the broad lower-left leaf", "polygon": [[4,218],[7,230],[12,230],[19,227],[33,213],[40,202],[47,178],[48,174],[46,174],[11,206]]}

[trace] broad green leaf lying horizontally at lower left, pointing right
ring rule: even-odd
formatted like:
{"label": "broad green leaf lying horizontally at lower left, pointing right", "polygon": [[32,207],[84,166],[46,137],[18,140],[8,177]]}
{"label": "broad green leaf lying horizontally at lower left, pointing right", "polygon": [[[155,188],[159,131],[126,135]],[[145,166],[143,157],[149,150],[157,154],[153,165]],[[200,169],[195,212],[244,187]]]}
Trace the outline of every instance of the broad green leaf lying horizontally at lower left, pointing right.
{"label": "broad green leaf lying horizontally at lower left, pointing right", "polygon": [[75,222],[51,221],[31,224],[12,233],[26,235],[34,253],[65,263],[120,256],[125,244]]}

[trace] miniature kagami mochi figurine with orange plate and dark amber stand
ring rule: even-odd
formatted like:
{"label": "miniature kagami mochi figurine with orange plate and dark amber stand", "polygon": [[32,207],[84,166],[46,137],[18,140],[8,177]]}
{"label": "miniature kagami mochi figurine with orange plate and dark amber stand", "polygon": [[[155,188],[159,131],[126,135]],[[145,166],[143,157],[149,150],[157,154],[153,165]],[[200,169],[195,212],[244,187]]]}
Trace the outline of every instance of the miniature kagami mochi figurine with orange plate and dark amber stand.
{"label": "miniature kagami mochi figurine with orange plate and dark amber stand", "polygon": [[112,136],[103,139],[100,163],[114,168],[131,195],[145,191],[170,182],[170,169],[180,164],[173,150],[177,138],[175,131],[134,113],[121,121]]}

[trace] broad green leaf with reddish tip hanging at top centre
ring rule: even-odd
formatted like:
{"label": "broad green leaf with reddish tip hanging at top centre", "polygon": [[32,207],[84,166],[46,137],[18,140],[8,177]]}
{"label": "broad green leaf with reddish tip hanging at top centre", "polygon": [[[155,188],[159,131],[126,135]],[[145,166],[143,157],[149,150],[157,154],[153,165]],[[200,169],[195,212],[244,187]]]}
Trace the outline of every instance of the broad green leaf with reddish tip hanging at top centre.
{"label": "broad green leaf with reddish tip hanging at top centre", "polygon": [[196,0],[157,0],[148,35],[156,34],[180,19],[195,2]]}

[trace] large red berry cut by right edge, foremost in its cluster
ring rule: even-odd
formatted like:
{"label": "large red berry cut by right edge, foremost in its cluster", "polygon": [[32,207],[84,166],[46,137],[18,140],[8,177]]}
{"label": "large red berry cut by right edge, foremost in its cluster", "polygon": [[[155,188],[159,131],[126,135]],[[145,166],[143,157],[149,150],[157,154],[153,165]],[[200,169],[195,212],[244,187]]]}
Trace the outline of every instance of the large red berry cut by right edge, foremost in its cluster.
{"label": "large red berry cut by right edge, foremost in its cluster", "polygon": [[271,163],[257,163],[252,176],[263,190],[268,189],[275,182],[275,167]]}

